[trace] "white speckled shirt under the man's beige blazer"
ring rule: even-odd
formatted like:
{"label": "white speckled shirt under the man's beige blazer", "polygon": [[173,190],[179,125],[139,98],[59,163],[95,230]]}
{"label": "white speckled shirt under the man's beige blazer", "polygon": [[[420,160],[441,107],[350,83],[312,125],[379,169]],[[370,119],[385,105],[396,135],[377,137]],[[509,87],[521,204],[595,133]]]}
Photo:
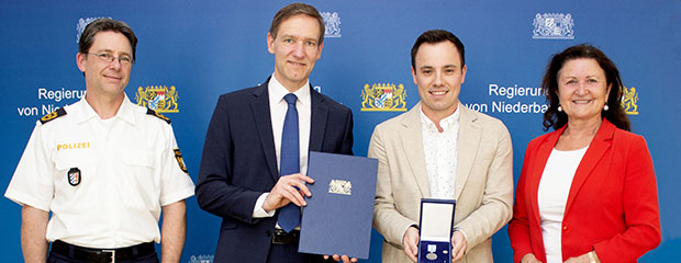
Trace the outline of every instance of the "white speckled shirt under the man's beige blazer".
{"label": "white speckled shirt under the man's beige blazer", "polygon": [[421,111],[421,133],[425,155],[426,174],[433,198],[454,198],[456,183],[457,139],[459,111],[439,121],[443,132]]}

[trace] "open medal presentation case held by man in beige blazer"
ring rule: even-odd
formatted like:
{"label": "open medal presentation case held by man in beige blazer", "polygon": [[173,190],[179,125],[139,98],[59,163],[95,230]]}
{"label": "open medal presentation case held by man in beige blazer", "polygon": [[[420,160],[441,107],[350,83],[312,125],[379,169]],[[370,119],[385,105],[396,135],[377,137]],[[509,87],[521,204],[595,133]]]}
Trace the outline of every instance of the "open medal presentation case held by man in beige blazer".
{"label": "open medal presentation case held by man in beige blazer", "polygon": [[454,199],[421,199],[418,263],[451,263]]}

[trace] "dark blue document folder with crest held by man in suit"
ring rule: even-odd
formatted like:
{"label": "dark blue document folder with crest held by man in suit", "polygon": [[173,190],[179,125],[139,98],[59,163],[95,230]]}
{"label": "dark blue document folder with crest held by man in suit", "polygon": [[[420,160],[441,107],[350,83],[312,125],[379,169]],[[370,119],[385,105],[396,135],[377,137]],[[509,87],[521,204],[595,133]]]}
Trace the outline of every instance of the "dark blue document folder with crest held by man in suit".
{"label": "dark blue document folder with crest held by man in suit", "polygon": [[377,159],[310,152],[299,252],[369,258],[377,172]]}

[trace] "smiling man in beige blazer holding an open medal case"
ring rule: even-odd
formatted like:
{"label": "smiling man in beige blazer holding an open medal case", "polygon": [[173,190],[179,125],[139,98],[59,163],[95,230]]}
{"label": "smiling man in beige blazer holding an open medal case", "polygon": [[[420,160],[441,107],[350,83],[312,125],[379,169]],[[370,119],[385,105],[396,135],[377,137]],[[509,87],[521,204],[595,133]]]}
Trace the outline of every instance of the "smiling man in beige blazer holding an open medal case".
{"label": "smiling man in beige blazer holding an open medal case", "polygon": [[464,44],[447,31],[423,33],[412,48],[421,102],[379,124],[373,227],[383,262],[416,261],[421,198],[456,199],[451,256],[492,262],[492,240],[512,216],[513,153],[503,123],[458,100],[466,78]]}

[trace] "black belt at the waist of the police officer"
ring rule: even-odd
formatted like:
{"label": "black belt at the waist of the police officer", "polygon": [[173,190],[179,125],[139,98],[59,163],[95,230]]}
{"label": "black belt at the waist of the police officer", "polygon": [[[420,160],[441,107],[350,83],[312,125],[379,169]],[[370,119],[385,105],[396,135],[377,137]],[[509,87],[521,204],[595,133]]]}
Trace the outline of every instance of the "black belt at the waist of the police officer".
{"label": "black belt at the waist of the police officer", "polygon": [[97,263],[115,263],[119,261],[136,260],[156,253],[153,242],[141,243],[121,249],[90,249],[69,244],[60,240],[52,242],[52,252],[63,256]]}

